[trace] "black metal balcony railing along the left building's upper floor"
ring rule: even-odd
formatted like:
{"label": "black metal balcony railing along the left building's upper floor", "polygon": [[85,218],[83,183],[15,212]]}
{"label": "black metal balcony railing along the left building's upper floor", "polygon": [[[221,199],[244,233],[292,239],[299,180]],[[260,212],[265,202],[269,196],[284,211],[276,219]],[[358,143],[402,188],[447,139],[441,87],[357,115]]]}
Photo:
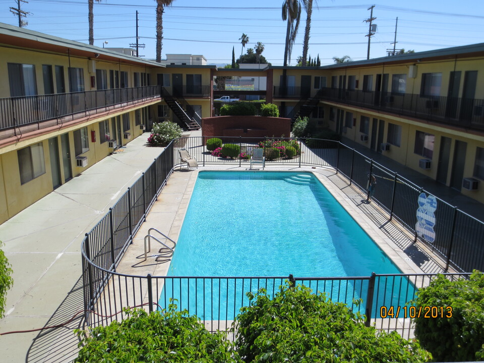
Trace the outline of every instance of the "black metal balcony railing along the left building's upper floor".
{"label": "black metal balcony railing along the left building's upper floor", "polygon": [[150,97],[160,97],[160,86],[0,98],[0,130]]}

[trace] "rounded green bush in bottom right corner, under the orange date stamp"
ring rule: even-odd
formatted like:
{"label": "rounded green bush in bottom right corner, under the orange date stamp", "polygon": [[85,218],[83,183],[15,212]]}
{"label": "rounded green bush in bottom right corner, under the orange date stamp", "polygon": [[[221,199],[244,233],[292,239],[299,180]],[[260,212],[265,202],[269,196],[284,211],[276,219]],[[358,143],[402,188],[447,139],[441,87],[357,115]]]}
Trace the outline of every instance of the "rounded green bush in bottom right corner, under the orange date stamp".
{"label": "rounded green bush in bottom right corner, under the orange date stamp", "polygon": [[[436,361],[484,359],[484,274],[474,271],[469,280],[449,281],[439,275],[417,292],[414,303],[422,313],[414,319],[415,336]],[[437,309],[437,318],[423,313]],[[449,308],[448,308],[449,307]],[[431,309],[430,309],[431,310]],[[442,317],[442,315],[444,317]],[[434,315],[436,316],[436,315]]]}

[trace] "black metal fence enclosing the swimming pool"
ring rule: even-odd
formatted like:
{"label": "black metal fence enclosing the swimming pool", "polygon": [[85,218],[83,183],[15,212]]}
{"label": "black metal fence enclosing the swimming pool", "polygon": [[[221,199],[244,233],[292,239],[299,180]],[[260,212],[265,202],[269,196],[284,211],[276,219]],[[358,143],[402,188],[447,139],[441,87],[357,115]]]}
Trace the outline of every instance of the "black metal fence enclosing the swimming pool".
{"label": "black metal fence enclosing the swimming pool", "polygon": [[[146,305],[151,311],[165,308],[170,299],[175,299],[178,309],[188,309],[190,314],[196,314],[208,322],[209,329],[225,330],[226,322],[234,319],[240,307],[248,305],[246,292],[255,292],[264,287],[273,295],[285,280],[290,279],[308,285],[315,292],[325,292],[334,300],[345,302],[353,311],[365,314],[367,324],[375,324],[379,329],[395,330],[404,337],[410,336],[410,318],[415,311],[405,304],[414,297],[416,289],[426,286],[435,274],[300,278],[155,277],[117,273],[116,266],[129,244],[133,243],[134,235],[161,189],[174,168],[181,167],[179,149],[187,149],[197,158],[199,165],[223,163],[249,167],[249,160],[212,156],[206,150],[203,139],[191,137],[171,142],[99,223],[86,233],[81,252],[88,326],[122,319],[123,307]],[[253,140],[248,143],[243,138],[220,139],[224,143],[238,143],[241,149],[249,152],[255,147]],[[261,139],[264,142],[268,140]],[[340,142],[317,139],[298,139],[298,142],[302,152],[295,158],[266,160],[266,164],[333,168],[346,176],[349,184],[354,184],[386,210],[389,220],[397,219],[415,235],[415,239],[420,239],[440,253],[447,266],[452,265],[463,272],[448,274],[448,278],[465,277],[468,276],[466,272],[472,269],[483,269],[484,224],[481,221],[436,198],[437,208],[433,211],[435,240],[430,243],[419,235],[415,227],[419,197],[421,202],[422,194],[428,196],[422,188]],[[378,188],[369,193],[371,176],[376,178]],[[358,299],[361,299],[361,303],[355,304]]]}

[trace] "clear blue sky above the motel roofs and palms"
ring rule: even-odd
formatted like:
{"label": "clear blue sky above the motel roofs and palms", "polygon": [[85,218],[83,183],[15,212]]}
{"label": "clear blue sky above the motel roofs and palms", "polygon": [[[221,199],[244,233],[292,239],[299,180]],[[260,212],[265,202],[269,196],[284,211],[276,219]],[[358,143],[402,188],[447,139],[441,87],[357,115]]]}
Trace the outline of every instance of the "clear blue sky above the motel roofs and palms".
{"label": "clear blue sky above the motel roofs and palms", "polygon": [[[319,10],[318,7],[319,6]],[[136,4],[136,5],[133,5]],[[353,0],[314,0],[309,53],[319,54],[321,63],[332,64],[333,56],[349,55],[354,60],[366,59],[368,24],[367,9],[375,5],[373,16],[378,25],[372,37],[371,58],[386,55],[393,48],[395,20],[398,17],[397,49],[415,51],[484,42],[484,0],[380,0],[364,4]],[[10,11],[16,0],[0,0],[0,22],[18,25]],[[281,19],[282,0],[175,0],[163,15],[163,49],[166,53],[203,54],[208,63],[231,62],[240,55],[238,40],[246,33],[253,47],[265,45],[263,55],[273,65],[282,65],[286,23]],[[31,14],[27,29],[88,43],[87,0],[28,0],[21,9]],[[136,16],[139,12],[140,50],[146,58],[155,57],[155,1],[103,0],[94,4],[94,45],[129,47],[135,43]],[[301,14],[291,65],[302,54],[306,13]]]}

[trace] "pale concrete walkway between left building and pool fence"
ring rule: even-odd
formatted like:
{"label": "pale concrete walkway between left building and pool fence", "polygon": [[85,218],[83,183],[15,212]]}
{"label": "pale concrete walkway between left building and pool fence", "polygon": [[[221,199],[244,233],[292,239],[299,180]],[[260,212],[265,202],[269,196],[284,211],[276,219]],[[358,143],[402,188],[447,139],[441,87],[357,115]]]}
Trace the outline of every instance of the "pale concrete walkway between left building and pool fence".
{"label": "pale concrete walkway between left building and pool fence", "polygon": [[[13,268],[0,334],[61,324],[83,309],[80,245],[88,232],[153,162],[162,148],[145,146],[149,133],[107,156],[81,175],[0,225]],[[66,362],[77,356],[69,329],[0,336],[0,360]]]}

